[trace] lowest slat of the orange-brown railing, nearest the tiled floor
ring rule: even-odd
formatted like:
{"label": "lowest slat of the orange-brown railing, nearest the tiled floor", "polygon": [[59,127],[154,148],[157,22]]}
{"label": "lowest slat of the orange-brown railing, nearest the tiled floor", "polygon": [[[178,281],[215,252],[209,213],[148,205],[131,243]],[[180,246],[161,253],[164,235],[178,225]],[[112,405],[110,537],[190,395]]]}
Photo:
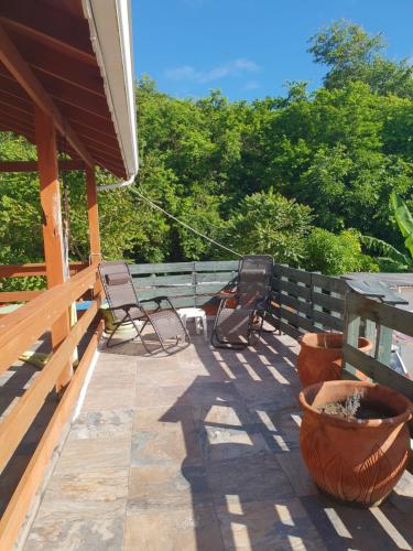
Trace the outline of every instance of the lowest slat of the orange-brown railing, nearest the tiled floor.
{"label": "lowest slat of the orange-brown railing, nearest the tiled floor", "polygon": [[62,430],[76,404],[102,331],[104,325],[100,323],[0,520],[0,549],[13,548],[32,500],[42,485],[53,451],[62,437]]}

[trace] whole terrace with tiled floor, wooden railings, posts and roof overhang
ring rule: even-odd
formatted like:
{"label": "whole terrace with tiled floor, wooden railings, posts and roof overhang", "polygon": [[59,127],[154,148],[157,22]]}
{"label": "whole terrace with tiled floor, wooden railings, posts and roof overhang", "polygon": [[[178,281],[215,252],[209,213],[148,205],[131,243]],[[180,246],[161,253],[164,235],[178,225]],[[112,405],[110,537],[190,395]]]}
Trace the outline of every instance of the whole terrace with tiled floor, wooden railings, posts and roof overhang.
{"label": "whole terrace with tiled floor, wooden railings, posts and roof overhang", "polygon": [[[413,398],[413,382],[389,367],[392,332],[413,336],[413,314],[382,285],[276,266],[265,323],[280,334],[256,348],[217,350],[195,334],[171,357],[139,342],[106,348],[95,168],[130,181],[138,168],[127,8],[18,0],[0,17],[0,129],[37,148],[35,161],[0,169],[39,170],[45,252],[0,277],[47,282],[0,293],[24,303],[0,318],[0,549],[411,549],[411,474],[381,507],[351,509],[319,494],[298,444],[305,332],[343,331],[346,377],[359,370]],[[65,258],[58,166],[86,174],[89,266]],[[142,299],[167,294],[213,314],[237,267],[132,272]],[[70,323],[79,301],[88,307]],[[371,356],[355,348],[360,331]],[[39,347],[43,368],[19,359]]]}

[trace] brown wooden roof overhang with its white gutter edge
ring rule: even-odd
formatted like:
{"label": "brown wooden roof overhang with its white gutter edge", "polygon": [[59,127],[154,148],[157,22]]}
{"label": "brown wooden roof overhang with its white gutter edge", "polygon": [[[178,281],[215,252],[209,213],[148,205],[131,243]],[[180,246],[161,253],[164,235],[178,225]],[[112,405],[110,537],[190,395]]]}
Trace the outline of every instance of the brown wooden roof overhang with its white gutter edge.
{"label": "brown wooden roof overhang with its white gutter edge", "polygon": [[58,149],[118,177],[138,171],[130,0],[13,0],[0,10],[0,130],[35,142],[34,106]]}

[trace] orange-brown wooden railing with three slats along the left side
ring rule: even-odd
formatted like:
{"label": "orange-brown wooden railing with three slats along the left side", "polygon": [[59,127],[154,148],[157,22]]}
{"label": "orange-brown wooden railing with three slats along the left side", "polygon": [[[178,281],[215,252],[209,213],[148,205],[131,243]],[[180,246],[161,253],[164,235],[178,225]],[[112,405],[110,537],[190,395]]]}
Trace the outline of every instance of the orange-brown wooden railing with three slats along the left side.
{"label": "orange-brown wooden railing with three slats along the left side", "polygon": [[[11,272],[14,277],[23,273],[28,276],[34,272],[34,270],[11,270]],[[4,270],[2,273],[4,273]],[[40,274],[39,271],[37,274]],[[21,309],[0,318],[0,372],[3,372],[13,365],[21,354],[29,350],[45,332],[50,331],[70,304],[87,291],[94,294],[88,310],[70,328],[68,335],[54,350],[45,367],[34,378],[0,424],[1,471],[15,453],[48,393],[56,386],[62,370],[70,361],[80,339],[90,326],[95,327],[96,325],[94,321],[96,321],[101,300],[101,288],[96,266],[81,270],[66,283],[43,292]],[[67,422],[78,397],[90,359],[97,348],[101,329],[101,323],[99,323],[94,328],[93,334],[89,335],[89,342],[72,380],[64,390],[46,431],[0,520],[0,549],[12,549],[13,541],[25,518],[32,498],[42,483],[53,450],[59,441],[63,426]]]}

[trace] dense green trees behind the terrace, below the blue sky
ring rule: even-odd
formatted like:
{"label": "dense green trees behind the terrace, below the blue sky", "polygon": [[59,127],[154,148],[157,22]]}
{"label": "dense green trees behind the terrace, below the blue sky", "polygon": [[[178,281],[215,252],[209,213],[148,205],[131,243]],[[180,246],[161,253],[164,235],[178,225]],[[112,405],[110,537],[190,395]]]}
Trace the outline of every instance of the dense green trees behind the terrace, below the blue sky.
{"label": "dense green trees behind the terrace, below the blue sky", "polygon": [[[413,206],[413,77],[385,57],[381,35],[339,21],[309,41],[324,86],[290,83],[284,97],[230,102],[219,90],[177,99],[137,83],[141,193],[235,250],[325,273],[378,270],[360,235],[403,248],[389,206]],[[0,133],[2,159],[34,159]],[[109,180],[100,173],[99,181]],[[70,257],[87,258],[85,186],[65,174]],[[0,262],[42,258],[35,174],[0,174]],[[139,262],[228,258],[128,190],[99,194],[107,258]]]}

